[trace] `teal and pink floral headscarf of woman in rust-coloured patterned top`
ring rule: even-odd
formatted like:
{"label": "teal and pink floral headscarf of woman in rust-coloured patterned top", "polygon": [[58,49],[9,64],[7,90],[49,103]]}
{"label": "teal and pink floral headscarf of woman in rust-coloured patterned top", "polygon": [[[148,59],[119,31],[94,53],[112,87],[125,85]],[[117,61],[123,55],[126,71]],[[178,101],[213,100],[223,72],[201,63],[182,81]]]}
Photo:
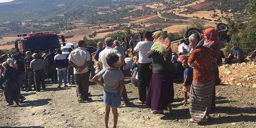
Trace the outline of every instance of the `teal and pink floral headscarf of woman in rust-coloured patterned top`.
{"label": "teal and pink floral headscarf of woman in rust-coloured patterned top", "polygon": [[193,33],[189,36],[189,41],[196,43],[196,46],[193,49],[200,48],[204,45],[204,35],[202,35],[201,33]]}

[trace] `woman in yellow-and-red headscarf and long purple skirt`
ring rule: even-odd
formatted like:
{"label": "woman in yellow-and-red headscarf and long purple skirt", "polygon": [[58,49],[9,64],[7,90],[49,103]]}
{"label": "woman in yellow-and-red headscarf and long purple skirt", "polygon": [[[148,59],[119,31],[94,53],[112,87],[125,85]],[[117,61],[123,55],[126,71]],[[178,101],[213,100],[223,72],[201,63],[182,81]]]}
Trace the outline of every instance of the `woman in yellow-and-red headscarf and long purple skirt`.
{"label": "woman in yellow-and-red headscarf and long purple skirt", "polygon": [[170,39],[167,33],[156,31],[153,33],[155,39],[148,58],[153,58],[152,79],[148,89],[146,105],[151,107],[153,114],[162,114],[165,108],[174,100],[174,87],[172,74],[175,72],[171,63]]}

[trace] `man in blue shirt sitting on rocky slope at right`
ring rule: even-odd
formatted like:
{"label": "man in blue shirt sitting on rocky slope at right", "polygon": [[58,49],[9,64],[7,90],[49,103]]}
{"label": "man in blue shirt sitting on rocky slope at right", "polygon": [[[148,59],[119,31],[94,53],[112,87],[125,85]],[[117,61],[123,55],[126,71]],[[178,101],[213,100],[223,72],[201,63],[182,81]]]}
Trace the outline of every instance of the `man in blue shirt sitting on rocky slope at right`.
{"label": "man in blue shirt sitting on rocky slope at right", "polygon": [[239,48],[236,43],[233,43],[230,54],[228,55],[228,58],[225,59],[224,64],[243,63],[244,60],[245,54],[243,53],[243,50]]}

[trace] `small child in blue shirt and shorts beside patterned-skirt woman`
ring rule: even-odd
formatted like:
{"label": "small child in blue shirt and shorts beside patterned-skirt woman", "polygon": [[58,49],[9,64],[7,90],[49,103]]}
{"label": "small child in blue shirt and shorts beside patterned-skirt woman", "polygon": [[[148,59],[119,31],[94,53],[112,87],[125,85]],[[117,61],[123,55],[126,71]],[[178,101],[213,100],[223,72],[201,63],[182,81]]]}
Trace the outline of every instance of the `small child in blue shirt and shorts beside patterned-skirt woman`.
{"label": "small child in blue shirt and shorts beside patterned-skirt woman", "polygon": [[184,57],[182,59],[182,66],[186,68],[184,70],[184,82],[183,82],[183,92],[184,92],[184,100],[183,104],[189,104],[188,102],[188,92],[190,90],[192,80],[193,80],[193,68],[188,65],[188,58]]}

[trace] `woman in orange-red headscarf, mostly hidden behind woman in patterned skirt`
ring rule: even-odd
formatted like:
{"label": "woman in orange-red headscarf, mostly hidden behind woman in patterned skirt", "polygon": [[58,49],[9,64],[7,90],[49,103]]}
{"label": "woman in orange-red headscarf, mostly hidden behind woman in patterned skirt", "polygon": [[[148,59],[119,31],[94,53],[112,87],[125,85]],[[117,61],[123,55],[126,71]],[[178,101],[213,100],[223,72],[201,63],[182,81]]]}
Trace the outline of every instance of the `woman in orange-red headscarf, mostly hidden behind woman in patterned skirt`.
{"label": "woman in orange-red headscarf, mostly hidden behind woman in patterned skirt", "polygon": [[[219,42],[219,31],[215,28],[208,28],[203,31],[204,39],[208,48],[220,53],[221,43]],[[222,63],[221,57],[217,60],[217,63]],[[213,70],[215,76],[215,86],[220,83],[219,69],[216,62],[213,62]],[[212,108],[215,108],[215,86],[213,88]]]}

